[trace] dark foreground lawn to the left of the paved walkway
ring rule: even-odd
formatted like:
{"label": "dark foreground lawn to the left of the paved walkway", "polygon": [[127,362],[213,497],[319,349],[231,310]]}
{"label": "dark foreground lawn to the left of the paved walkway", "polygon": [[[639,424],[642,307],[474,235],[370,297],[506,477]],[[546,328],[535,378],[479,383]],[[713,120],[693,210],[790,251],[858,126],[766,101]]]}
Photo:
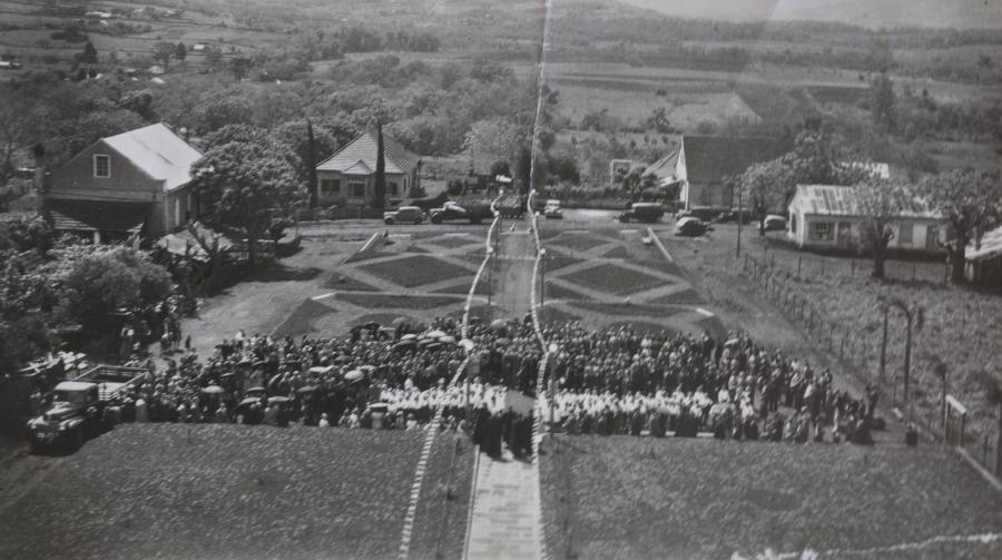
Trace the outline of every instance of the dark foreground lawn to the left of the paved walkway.
{"label": "dark foreground lawn to the left of the paved walkway", "polygon": [[0,558],[391,558],[423,436],[122,425],[0,512]]}

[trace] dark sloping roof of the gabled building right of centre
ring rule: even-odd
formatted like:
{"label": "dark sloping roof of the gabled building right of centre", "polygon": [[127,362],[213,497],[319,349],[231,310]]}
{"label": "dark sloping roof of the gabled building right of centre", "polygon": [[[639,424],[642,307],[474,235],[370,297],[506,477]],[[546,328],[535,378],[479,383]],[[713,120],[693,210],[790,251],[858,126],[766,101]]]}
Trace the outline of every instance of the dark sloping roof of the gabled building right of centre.
{"label": "dark sloping roof of the gabled building right of centre", "polygon": [[685,136],[682,146],[689,183],[720,183],[793,148],[787,140],[739,136]]}

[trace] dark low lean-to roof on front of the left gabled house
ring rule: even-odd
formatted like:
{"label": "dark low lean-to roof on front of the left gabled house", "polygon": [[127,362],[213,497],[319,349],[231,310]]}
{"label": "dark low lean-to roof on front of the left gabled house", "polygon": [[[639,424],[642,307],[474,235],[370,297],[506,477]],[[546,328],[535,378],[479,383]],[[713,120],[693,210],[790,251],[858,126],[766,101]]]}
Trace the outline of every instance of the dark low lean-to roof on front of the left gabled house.
{"label": "dark low lean-to roof on front of the left gabled house", "polygon": [[151,203],[47,198],[42,213],[57,232],[136,232],[143,227],[151,206]]}

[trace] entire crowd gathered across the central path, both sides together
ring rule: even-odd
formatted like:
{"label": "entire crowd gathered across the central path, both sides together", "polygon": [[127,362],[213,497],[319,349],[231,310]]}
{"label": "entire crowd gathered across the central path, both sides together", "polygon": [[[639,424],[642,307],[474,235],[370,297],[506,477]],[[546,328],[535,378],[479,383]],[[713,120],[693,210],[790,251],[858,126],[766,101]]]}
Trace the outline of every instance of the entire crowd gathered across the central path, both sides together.
{"label": "entire crowd gathered across the central path, both sides together", "polygon": [[[146,373],[112,404],[136,422],[416,430],[439,417],[432,428],[466,431],[491,455],[507,442],[528,456],[532,406],[512,406],[510,392],[534,396],[542,353],[531,321],[473,323],[472,344],[460,337],[455,321],[439,318],[331,338],[240,331],[207,356],[165,345],[166,367],[134,356],[127,365]],[[872,442],[876,392],[853,399],[827,370],[741,333],[715,340],[568,323],[543,337],[558,348],[543,376],[551,430]],[[464,361],[463,381],[453,383]]]}

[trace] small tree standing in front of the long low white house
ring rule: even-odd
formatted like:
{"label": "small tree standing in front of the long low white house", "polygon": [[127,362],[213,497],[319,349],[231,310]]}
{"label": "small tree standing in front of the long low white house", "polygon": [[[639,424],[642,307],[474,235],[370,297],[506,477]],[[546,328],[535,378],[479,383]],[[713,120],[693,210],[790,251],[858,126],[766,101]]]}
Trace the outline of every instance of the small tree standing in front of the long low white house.
{"label": "small tree standing in front of the long low white house", "polygon": [[900,184],[872,178],[853,188],[859,223],[859,247],[873,255],[874,278],[884,279],[884,262],[887,246],[894,239],[894,226],[898,224],[902,208],[908,207],[911,194]]}

